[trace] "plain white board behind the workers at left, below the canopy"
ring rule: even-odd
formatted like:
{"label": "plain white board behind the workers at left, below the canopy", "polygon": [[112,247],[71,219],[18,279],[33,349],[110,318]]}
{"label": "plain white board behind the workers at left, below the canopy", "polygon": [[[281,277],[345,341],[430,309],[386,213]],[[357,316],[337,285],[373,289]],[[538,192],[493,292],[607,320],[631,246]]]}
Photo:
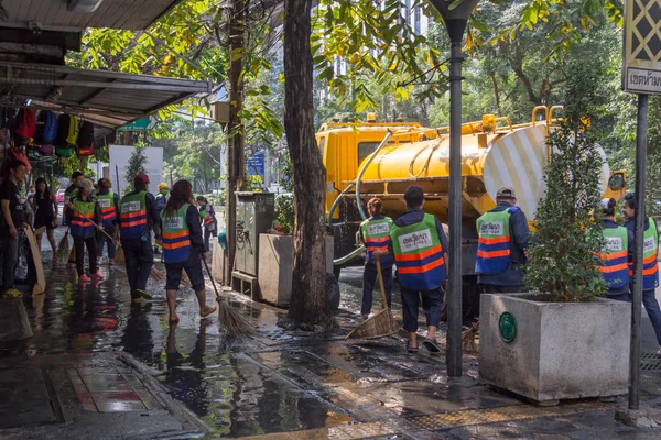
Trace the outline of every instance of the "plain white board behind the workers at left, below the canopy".
{"label": "plain white board behind the workers at left, below the canopy", "polygon": [[[134,146],[131,145],[110,145],[110,180],[112,182],[112,189],[117,190],[117,172],[119,169],[119,189],[121,194],[124,194],[126,188],[133,188],[133,178],[127,180],[127,167],[129,165],[129,158],[136,151]],[[158,185],[163,182],[163,148],[156,146],[148,146],[143,150],[147,163],[144,169],[149,176],[149,191],[158,194]]]}

